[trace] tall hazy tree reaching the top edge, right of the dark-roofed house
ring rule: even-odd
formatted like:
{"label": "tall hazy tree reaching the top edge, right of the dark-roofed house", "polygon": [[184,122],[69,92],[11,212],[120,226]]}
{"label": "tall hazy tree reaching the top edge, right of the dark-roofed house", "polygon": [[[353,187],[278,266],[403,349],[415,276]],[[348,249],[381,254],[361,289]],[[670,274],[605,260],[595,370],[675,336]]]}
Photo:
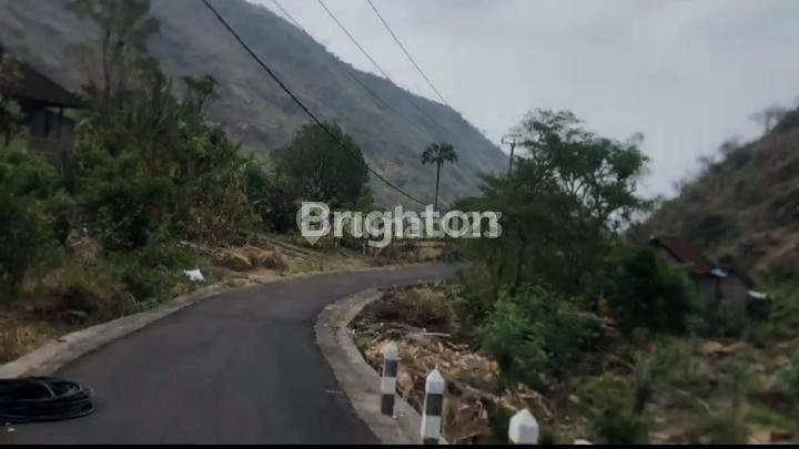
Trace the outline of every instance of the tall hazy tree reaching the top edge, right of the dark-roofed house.
{"label": "tall hazy tree reaching the top edge, right of the dark-roofed house", "polygon": [[85,92],[95,113],[107,116],[131,90],[145,84],[158,65],[146,44],[160,23],[150,16],[150,0],[72,0],[69,9],[98,28],[98,43],[73,51],[87,72]]}

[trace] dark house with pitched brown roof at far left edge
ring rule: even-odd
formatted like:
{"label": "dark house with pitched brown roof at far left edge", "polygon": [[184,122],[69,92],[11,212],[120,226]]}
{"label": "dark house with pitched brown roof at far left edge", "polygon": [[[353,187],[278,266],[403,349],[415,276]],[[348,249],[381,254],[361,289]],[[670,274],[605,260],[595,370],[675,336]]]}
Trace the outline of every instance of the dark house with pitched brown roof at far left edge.
{"label": "dark house with pitched brown roof at far left edge", "polygon": [[[0,58],[2,55],[0,47]],[[27,150],[60,167],[64,155],[72,150],[74,136],[74,121],[65,113],[83,109],[83,102],[30,65],[20,63],[20,69],[21,82],[0,93],[13,99],[22,110],[28,130]]]}

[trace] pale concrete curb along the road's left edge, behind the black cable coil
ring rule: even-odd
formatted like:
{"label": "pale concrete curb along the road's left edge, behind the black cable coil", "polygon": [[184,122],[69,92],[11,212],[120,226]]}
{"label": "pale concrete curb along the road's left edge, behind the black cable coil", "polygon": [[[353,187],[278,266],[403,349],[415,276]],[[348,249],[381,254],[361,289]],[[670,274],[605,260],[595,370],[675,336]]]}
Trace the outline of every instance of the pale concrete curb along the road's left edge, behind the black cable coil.
{"label": "pale concrete curb along the road's left edge, behind the black cable coil", "polygon": [[176,297],[153,309],[68,334],[0,366],[0,379],[52,375],[70,361],[101,346],[134,333],[184,307],[232,289],[223,285],[211,285],[190,295]]}

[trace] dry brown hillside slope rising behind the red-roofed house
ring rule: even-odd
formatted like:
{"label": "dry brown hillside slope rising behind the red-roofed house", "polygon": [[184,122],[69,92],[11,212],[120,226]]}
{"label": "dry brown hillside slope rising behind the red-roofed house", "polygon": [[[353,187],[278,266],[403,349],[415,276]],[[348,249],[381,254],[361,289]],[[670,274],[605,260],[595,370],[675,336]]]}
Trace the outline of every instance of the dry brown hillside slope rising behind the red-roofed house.
{"label": "dry brown hillside slope rising behind the red-roofed house", "polygon": [[644,225],[686,237],[757,277],[799,278],[799,110],[762,137],[729,149]]}

